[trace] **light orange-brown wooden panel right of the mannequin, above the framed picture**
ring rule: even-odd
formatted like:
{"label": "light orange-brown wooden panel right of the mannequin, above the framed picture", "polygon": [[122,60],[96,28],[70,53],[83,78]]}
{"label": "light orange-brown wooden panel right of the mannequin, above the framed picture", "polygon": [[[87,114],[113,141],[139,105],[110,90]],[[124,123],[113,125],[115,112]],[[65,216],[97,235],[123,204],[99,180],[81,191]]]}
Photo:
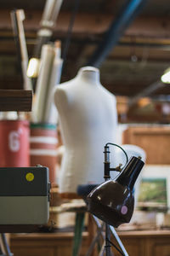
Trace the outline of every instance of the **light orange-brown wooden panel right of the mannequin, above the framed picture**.
{"label": "light orange-brown wooden panel right of the mannequin, above the framed picture", "polygon": [[144,149],[147,165],[170,165],[169,125],[132,125],[123,132],[123,144],[133,144]]}

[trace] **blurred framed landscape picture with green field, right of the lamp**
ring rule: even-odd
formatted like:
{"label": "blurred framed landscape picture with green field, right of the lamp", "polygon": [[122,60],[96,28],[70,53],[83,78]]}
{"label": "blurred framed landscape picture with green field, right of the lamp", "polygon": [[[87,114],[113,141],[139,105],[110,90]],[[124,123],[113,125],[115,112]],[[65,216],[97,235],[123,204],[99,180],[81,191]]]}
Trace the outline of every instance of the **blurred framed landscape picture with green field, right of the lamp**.
{"label": "blurred framed landscape picture with green field, right of the lamp", "polygon": [[170,208],[170,166],[144,166],[138,206],[162,211]]}

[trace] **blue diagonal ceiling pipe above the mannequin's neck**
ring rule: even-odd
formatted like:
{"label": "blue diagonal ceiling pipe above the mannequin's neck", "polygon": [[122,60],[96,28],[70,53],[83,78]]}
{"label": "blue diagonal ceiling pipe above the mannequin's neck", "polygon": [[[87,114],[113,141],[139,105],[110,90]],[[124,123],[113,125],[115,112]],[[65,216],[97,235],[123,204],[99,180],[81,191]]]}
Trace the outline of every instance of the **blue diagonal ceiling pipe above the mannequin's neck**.
{"label": "blue diagonal ceiling pipe above the mannequin's neck", "polygon": [[119,38],[122,37],[127,27],[139,15],[146,2],[147,0],[127,0],[123,4],[119,15],[111,23],[111,26],[105,33],[105,38],[94,51],[94,55],[88,61],[87,66],[99,67],[102,64],[106,56],[110,54],[113,47],[118,43]]}

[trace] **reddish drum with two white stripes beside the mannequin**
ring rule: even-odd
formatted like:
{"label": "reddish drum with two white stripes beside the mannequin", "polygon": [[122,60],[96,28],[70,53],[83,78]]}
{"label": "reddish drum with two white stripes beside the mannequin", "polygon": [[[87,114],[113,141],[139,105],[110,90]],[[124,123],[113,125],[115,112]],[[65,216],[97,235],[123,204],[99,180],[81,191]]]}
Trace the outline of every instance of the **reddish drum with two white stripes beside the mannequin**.
{"label": "reddish drum with two white stripes beside the mannequin", "polygon": [[57,142],[56,125],[31,124],[31,166],[47,166],[51,183],[56,183]]}

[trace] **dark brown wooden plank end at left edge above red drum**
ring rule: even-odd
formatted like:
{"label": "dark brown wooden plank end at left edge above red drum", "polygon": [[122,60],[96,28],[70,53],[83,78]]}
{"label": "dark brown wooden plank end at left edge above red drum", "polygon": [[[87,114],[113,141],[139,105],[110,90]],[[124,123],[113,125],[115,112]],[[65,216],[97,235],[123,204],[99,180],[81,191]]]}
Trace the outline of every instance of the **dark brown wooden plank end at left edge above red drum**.
{"label": "dark brown wooden plank end at left edge above red drum", "polygon": [[0,111],[30,112],[31,90],[0,90]]}

